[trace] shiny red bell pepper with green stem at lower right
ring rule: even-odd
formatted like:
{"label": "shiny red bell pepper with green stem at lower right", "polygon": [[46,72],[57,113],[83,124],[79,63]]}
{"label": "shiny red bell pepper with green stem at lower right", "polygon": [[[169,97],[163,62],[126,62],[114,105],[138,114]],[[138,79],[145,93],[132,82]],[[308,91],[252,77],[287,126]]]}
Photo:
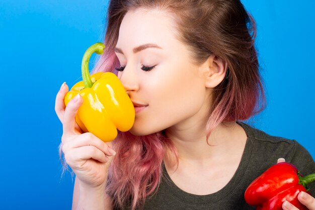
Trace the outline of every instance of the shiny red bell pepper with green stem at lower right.
{"label": "shiny red bell pepper with green stem at lower right", "polygon": [[302,177],[296,167],[281,162],[271,166],[257,177],[245,191],[245,201],[257,206],[257,210],[282,210],[282,203],[287,200],[300,210],[307,210],[297,195],[309,193],[307,184],[315,181],[315,174]]}

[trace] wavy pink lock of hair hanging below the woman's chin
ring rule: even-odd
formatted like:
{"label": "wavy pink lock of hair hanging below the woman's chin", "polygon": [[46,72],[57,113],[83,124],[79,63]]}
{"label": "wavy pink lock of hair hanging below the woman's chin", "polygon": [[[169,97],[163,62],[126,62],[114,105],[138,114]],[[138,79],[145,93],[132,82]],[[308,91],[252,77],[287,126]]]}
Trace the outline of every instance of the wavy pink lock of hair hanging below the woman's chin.
{"label": "wavy pink lock of hair hanging below the woman's chin", "polygon": [[[176,148],[161,132],[146,136],[134,136],[120,132],[114,141],[117,155],[109,169],[107,192],[116,198],[115,205],[125,209],[130,199],[134,209],[160,183],[161,165],[167,152],[175,154]],[[127,202],[128,205],[128,202]]]}

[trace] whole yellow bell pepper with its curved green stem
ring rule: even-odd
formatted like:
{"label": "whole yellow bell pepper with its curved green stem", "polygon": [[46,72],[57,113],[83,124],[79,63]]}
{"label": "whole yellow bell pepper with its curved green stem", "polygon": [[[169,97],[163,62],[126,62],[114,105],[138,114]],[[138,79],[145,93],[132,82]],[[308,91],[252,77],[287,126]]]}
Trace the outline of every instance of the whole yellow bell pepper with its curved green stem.
{"label": "whole yellow bell pepper with its curved green stem", "polygon": [[102,54],[104,44],[89,47],[82,60],[83,81],[76,83],[64,97],[65,105],[80,94],[83,104],[75,121],[84,132],[91,132],[104,142],[112,141],[120,131],[129,130],[134,122],[135,110],[123,85],[113,73],[96,73],[90,76],[89,59],[93,52]]}

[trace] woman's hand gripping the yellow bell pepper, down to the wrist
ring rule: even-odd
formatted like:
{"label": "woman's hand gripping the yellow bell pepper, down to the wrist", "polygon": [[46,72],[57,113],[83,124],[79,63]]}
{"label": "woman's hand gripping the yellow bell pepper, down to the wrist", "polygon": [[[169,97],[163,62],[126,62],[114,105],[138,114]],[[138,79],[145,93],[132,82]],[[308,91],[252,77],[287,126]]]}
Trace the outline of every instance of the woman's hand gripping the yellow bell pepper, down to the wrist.
{"label": "woman's hand gripping the yellow bell pepper, down to the wrist", "polygon": [[56,96],[55,111],[63,125],[62,152],[66,163],[80,180],[81,187],[105,187],[107,172],[115,151],[111,143],[104,143],[94,134],[82,130],[75,115],[83,99],[78,94],[65,107],[64,96],[68,87],[64,83]]}

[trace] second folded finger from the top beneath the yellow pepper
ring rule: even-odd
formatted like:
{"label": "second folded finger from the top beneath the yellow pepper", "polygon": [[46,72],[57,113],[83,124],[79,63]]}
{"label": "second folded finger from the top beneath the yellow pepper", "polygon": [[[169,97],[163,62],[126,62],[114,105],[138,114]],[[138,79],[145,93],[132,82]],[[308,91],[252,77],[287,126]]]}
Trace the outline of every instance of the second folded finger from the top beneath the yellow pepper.
{"label": "second folded finger from the top beneath the yellow pepper", "polygon": [[64,154],[65,161],[72,167],[75,167],[75,163],[78,161],[89,160],[91,158],[101,163],[109,161],[108,157],[94,146],[75,148]]}

